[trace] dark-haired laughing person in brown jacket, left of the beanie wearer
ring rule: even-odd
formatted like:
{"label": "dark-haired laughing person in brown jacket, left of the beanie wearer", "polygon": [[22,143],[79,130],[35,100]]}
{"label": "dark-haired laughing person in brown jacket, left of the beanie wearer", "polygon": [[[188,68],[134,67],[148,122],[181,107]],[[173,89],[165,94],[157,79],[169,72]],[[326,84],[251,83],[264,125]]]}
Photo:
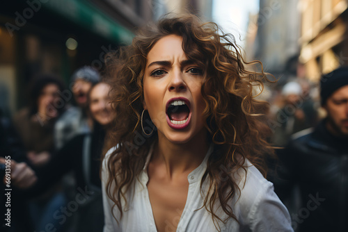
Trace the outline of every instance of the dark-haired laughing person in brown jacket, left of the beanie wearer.
{"label": "dark-haired laughing person in brown jacket, left of the beanie wearer", "polygon": [[[54,124],[65,110],[65,100],[61,97],[64,85],[61,79],[51,74],[42,74],[33,79],[29,96],[29,106],[14,117],[15,129],[24,142],[26,158],[32,167],[45,165],[54,151]],[[66,197],[57,184],[40,192],[29,202],[29,210],[35,230],[43,231],[47,223],[66,202]],[[57,231],[61,227],[56,224]]]}

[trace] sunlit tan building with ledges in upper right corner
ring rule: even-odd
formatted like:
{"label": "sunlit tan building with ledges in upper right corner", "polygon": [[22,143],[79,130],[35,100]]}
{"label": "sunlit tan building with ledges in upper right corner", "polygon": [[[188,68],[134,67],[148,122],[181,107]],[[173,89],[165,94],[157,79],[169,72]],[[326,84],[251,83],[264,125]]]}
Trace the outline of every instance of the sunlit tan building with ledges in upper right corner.
{"label": "sunlit tan building with ledges in upper right corner", "polygon": [[301,56],[306,77],[317,82],[322,74],[348,65],[348,1],[301,0]]}

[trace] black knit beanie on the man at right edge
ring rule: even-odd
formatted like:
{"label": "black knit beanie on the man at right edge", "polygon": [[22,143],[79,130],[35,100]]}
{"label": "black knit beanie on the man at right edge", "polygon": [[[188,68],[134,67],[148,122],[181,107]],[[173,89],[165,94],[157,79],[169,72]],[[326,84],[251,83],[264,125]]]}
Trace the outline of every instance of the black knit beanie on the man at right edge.
{"label": "black knit beanie on the man at right edge", "polygon": [[325,105],[326,100],[339,88],[348,85],[348,66],[339,67],[329,74],[325,74],[320,79],[320,98],[322,99],[322,106]]}

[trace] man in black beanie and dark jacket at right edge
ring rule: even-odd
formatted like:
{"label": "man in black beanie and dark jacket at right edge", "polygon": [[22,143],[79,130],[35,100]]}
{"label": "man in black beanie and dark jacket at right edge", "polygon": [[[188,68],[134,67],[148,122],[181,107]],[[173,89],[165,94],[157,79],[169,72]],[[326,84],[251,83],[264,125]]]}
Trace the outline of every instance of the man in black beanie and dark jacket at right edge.
{"label": "man in black beanie and dark jacket at right edge", "polygon": [[298,186],[296,231],[348,231],[348,67],[322,76],[320,85],[327,116],[315,129],[294,134],[279,153],[274,185],[283,201]]}

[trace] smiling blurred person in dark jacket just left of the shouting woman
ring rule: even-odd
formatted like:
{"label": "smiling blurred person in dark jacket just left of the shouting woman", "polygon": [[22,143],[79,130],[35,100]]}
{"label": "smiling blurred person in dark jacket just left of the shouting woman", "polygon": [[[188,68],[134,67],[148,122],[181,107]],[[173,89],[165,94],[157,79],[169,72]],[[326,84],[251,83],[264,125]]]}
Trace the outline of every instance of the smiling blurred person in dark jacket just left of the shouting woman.
{"label": "smiling blurred person in dark jacket just left of the shouting woman", "polygon": [[[75,226],[73,231],[102,231],[104,226],[100,160],[101,154],[114,146],[111,144],[109,130],[116,117],[111,109],[109,90],[109,84],[100,82],[86,96],[88,111],[93,120],[90,133],[76,135],[56,152],[47,165],[35,169],[38,183],[33,186],[32,192],[40,192],[61,179],[63,174],[74,171],[77,190],[74,200],[79,192],[86,194],[80,196],[77,210],[69,212],[70,216],[77,218],[76,224],[72,225]],[[62,215],[63,213],[58,213],[56,219],[64,224]]]}

